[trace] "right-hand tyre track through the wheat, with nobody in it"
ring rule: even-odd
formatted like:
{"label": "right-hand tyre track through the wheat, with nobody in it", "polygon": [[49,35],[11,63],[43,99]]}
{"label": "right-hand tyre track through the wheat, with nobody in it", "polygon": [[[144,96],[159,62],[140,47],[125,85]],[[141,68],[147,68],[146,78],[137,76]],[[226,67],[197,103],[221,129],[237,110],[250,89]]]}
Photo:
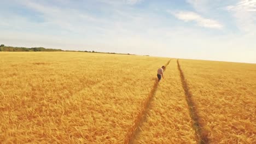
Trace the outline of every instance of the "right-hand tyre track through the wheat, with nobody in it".
{"label": "right-hand tyre track through the wheat, with nobody in it", "polygon": [[182,87],[184,89],[187,104],[189,107],[190,117],[193,122],[193,129],[195,130],[196,140],[198,143],[201,143],[201,144],[209,143],[207,131],[205,131],[203,129],[203,123],[201,121],[201,118],[198,116],[195,103],[194,103],[193,99],[191,98],[193,95],[189,91],[189,87],[188,87],[187,81],[184,77],[184,73],[181,69],[181,65],[179,65],[179,59],[177,59],[177,64],[178,64],[179,74],[181,77]]}

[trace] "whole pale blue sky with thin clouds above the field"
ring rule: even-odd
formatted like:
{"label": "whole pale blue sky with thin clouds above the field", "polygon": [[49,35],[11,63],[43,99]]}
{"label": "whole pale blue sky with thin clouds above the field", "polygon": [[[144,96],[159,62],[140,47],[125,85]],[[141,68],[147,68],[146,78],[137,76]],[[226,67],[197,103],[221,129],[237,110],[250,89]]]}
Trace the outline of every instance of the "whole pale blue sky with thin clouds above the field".
{"label": "whole pale blue sky with thin clouds above the field", "polygon": [[0,0],[0,43],[256,63],[256,0]]}

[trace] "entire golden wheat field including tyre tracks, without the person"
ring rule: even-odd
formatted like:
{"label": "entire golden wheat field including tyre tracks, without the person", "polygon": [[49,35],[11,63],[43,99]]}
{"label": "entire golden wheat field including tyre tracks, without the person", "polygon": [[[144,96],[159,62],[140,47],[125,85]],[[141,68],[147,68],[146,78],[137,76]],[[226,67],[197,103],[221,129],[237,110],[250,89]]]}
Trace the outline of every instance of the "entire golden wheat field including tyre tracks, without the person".
{"label": "entire golden wheat field including tyre tracks, without the person", "polygon": [[255,64],[85,52],[0,62],[1,143],[256,143]]}

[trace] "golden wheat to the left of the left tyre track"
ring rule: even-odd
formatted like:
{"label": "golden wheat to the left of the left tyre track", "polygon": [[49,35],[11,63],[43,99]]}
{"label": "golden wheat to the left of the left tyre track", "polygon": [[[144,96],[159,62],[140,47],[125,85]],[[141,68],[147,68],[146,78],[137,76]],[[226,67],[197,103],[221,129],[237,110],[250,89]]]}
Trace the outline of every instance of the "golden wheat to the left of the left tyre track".
{"label": "golden wheat to the left of the left tyre track", "polygon": [[0,141],[123,143],[167,58],[1,52]]}

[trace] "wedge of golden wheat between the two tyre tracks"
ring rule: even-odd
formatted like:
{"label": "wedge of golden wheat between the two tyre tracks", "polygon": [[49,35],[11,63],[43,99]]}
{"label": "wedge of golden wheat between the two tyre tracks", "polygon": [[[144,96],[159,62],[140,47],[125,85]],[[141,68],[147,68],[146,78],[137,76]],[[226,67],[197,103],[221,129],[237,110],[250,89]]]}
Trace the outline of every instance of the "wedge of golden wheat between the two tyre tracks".
{"label": "wedge of golden wheat between the two tyre tracks", "polygon": [[164,75],[134,143],[196,143],[176,61]]}

